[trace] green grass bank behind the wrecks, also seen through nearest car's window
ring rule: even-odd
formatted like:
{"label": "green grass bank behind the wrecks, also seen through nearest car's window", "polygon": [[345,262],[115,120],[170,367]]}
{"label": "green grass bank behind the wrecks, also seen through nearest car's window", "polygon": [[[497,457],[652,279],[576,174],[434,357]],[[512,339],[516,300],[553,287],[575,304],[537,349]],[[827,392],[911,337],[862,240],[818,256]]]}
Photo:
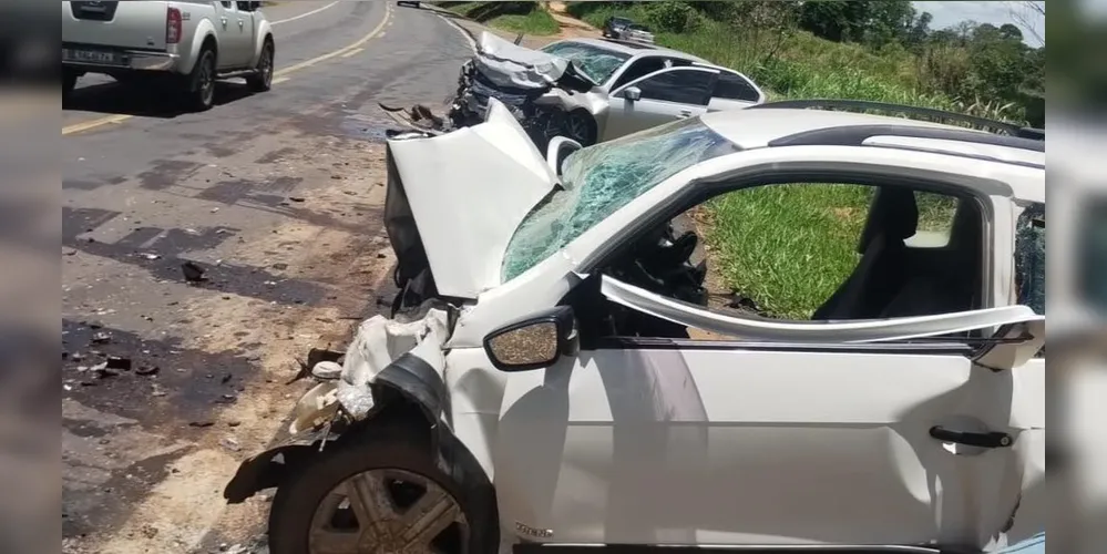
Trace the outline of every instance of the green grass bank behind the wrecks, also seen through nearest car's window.
{"label": "green grass bank behind the wrecks, also seen through nearest car's window", "polygon": [[[616,12],[648,21],[642,6],[581,10],[577,3],[570,9],[595,27]],[[902,49],[873,53],[803,31],[780,41],[707,20],[691,32],[657,33],[656,40],[749,75],[773,100],[861,99],[994,111],[922,92],[915,60]],[[767,59],[770,49],[775,53]],[[855,185],[778,185],[717,197],[701,214],[711,266],[727,287],[768,315],[809,318],[855,266],[870,197],[871,188]],[[950,198],[922,197],[920,227],[944,228],[952,209]]]}

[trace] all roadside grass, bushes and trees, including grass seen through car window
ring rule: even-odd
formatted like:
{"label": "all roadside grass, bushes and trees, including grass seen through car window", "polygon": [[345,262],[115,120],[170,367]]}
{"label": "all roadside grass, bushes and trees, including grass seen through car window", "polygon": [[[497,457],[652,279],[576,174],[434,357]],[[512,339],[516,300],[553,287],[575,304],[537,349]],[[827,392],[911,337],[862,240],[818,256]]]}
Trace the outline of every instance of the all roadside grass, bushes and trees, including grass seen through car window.
{"label": "all roadside grass, bushes and trees, including grass seen through car window", "polygon": [[[1033,7],[1027,7],[1033,9]],[[910,1],[570,2],[594,27],[649,24],[658,44],[754,79],[770,99],[857,99],[1044,124],[1045,48],[1013,25],[932,30]],[[852,271],[871,189],[739,191],[701,211],[711,266],[765,315],[806,319]],[[947,227],[952,198],[920,198],[920,228]]]}

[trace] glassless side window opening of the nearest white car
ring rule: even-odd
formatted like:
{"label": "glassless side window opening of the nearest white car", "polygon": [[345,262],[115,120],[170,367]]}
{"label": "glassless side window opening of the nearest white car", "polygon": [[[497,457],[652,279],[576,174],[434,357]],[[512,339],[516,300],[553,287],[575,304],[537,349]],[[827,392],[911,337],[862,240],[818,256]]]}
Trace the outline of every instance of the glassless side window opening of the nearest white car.
{"label": "glassless side window opening of the nearest white car", "polygon": [[[642,234],[596,271],[736,318],[952,314],[985,307],[983,229],[971,198],[899,186],[773,184],[716,196]],[[741,338],[606,304],[613,336]]]}

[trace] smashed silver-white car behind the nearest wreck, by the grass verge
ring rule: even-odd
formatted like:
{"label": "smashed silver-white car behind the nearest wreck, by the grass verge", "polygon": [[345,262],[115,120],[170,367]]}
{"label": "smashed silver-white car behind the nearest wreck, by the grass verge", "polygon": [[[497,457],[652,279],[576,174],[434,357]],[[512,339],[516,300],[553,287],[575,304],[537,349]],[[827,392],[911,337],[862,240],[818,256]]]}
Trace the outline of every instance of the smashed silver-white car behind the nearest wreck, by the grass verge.
{"label": "smashed silver-white car behind the nearest wreck, by the grass verge", "polygon": [[[484,32],[461,69],[447,116],[413,110],[439,132],[480,124],[503,103],[540,150],[555,136],[584,146],[708,112],[763,103],[746,75],[653,44],[568,39],[531,50]],[[381,106],[397,113],[396,107]]]}

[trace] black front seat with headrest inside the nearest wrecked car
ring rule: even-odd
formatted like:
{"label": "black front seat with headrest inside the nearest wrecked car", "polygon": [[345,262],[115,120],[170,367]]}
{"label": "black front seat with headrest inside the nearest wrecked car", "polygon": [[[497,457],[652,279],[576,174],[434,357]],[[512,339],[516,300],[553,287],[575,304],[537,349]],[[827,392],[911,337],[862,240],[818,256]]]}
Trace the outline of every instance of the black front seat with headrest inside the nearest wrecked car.
{"label": "black front seat with headrest inside the nearest wrecked car", "polygon": [[915,234],[919,206],[914,192],[902,187],[877,189],[861,233],[861,260],[812,319],[880,317],[906,281],[908,248],[903,239]]}

